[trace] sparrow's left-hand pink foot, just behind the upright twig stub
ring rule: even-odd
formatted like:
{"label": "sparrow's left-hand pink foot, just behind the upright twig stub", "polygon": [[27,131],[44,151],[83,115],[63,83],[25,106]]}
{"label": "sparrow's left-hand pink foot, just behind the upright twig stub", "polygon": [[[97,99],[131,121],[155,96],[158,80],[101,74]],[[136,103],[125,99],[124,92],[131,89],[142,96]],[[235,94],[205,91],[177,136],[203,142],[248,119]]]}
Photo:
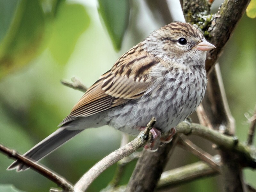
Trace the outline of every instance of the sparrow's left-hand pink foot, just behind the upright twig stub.
{"label": "sparrow's left-hand pink foot, just behind the upright twig stub", "polygon": [[[139,130],[142,131],[142,130],[145,130],[146,127],[140,127]],[[160,142],[160,137],[161,137],[161,132],[156,129],[155,127],[153,127],[152,129],[150,129],[150,132],[153,136],[153,140],[148,143],[147,145],[144,146],[144,148],[148,151],[148,152],[156,152],[157,149],[158,149],[158,145],[159,145],[159,142]]]}

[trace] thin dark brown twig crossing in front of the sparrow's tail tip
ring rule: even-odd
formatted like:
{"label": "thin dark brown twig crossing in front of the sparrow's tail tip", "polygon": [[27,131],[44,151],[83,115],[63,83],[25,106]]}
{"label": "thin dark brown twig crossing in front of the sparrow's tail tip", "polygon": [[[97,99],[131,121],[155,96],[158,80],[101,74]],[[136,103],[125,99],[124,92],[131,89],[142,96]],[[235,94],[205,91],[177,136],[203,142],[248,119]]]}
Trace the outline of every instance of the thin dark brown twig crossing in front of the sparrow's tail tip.
{"label": "thin dark brown twig crossing in front of the sparrow's tail tip", "polygon": [[53,171],[50,171],[49,169],[45,168],[44,166],[42,166],[40,164],[38,164],[34,161],[31,161],[27,157],[20,155],[15,150],[9,149],[9,148],[5,147],[4,145],[0,144],[0,151],[2,151],[5,155],[8,155],[9,157],[12,157],[12,158],[19,160],[22,163],[30,166],[33,170],[40,173],[41,175],[48,178],[49,180],[53,181],[54,183],[56,183],[59,187],[61,187],[65,191],[68,191],[68,192],[74,191],[72,184],[69,181],[67,181],[65,178],[61,177],[57,173],[54,173]]}

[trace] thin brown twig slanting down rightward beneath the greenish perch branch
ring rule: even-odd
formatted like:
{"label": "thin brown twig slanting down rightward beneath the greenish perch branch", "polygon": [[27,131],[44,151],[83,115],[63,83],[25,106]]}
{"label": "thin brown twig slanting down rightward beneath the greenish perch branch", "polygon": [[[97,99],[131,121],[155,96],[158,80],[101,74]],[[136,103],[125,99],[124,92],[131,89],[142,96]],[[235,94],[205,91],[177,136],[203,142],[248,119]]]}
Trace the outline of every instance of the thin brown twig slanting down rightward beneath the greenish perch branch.
{"label": "thin brown twig slanting down rightward beneath the greenish perch branch", "polygon": [[205,161],[207,164],[210,165],[210,167],[212,167],[212,169],[220,172],[220,165],[212,160],[212,156],[209,153],[202,150],[201,148],[197,147],[190,140],[180,135],[180,140],[178,141],[178,144],[180,144],[182,148],[190,151],[192,154],[194,154],[201,160]]}

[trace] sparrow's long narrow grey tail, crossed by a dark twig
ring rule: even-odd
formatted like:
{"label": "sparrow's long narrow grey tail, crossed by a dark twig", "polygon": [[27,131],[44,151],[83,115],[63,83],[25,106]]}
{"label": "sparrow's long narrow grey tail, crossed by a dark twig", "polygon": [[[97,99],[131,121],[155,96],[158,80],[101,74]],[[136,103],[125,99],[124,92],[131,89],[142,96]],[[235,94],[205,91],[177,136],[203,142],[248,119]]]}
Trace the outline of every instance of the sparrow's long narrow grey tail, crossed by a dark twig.
{"label": "sparrow's long narrow grey tail, crossed by a dark twig", "polygon": [[[76,134],[83,130],[67,130],[65,126],[60,127],[51,135],[46,137],[44,140],[36,144],[33,148],[31,148],[28,152],[26,152],[23,156],[29,157],[35,161],[39,161],[43,157],[49,155],[55,149],[59,148],[66,141],[70,140]],[[16,171],[24,171],[29,167],[19,160],[13,162],[7,170],[16,169]]]}

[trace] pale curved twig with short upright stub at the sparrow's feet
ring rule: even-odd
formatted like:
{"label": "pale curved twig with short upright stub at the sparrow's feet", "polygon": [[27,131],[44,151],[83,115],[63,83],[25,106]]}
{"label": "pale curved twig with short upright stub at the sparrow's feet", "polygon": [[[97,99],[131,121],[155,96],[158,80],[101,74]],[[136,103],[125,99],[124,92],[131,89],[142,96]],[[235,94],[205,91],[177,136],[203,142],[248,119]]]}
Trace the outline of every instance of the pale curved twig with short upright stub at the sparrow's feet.
{"label": "pale curved twig with short upright stub at the sparrow's feet", "polygon": [[103,171],[105,171],[109,166],[115,164],[120,159],[123,159],[125,156],[133,153],[140,147],[146,145],[147,142],[152,140],[152,134],[149,134],[150,129],[156,123],[156,119],[153,117],[148,123],[146,129],[141,131],[140,134],[131,142],[126,144],[124,147],[121,147],[114,152],[110,153],[108,156],[104,157],[97,164],[95,164],[88,172],[86,172],[80,180],[77,181],[74,186],[76,192],[85,191],[89,185],[94,181]]}

